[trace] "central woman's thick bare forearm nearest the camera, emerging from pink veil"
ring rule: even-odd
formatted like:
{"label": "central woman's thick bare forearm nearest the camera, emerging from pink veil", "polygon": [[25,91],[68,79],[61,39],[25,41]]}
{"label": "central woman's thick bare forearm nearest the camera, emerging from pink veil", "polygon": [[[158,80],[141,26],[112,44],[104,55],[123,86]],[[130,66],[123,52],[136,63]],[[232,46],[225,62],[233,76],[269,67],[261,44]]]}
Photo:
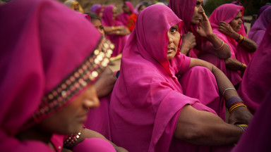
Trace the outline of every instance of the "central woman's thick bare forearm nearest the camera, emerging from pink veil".
{"label": "central woman's thick bare forearm nearest the camera, emerging from pink veil", "polygon": [[217,115],[185,106],[174,136],[191,144],[218,146],[236,143],[241,134],[239,127],[227,124]]}

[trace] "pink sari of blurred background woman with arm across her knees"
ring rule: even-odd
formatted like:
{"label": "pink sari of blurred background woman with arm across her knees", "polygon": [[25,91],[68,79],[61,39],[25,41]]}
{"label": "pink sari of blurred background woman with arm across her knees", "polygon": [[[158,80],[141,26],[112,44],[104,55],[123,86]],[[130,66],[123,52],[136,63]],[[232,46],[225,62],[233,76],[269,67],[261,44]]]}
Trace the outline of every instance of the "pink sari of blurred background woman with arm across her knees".
{"label": "pink sari of blurred background woman with arm across her knees", "polygon": [[[104,8],[104,13],[102,15],[102,25],[104,26],[125,26],[119,20],[113,20],[112,10],[115,6],[109,5]],[[126,43],[126,36],[124,35],[107,35],[107,38],[115,45],[115,48],[112,53],[113,56],[118,56],[119,53],[122,53],[124,49],[124,44]]]}

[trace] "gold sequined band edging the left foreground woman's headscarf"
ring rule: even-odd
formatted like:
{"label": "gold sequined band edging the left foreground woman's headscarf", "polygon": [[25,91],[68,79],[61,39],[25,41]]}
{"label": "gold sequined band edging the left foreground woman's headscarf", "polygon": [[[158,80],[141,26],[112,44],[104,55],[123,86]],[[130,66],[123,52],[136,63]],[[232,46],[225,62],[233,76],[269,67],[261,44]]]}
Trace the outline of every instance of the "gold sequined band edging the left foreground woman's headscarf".
{"label": "gold sequined band edging the left foreground woman's headscarf", "polygon": [[77,94],[83,87],[86,87],[88,83],[94,82],[104,68],[107,68],[113,49],[114,44],[102,37],[95,51],[81,65],[78,65],[78,68],[71,72],[71,75],[68,75],[52,91],[42,97],[39,109],[26,122],[25,127],[40,122],[50,113],[66,105],[71,97]]}

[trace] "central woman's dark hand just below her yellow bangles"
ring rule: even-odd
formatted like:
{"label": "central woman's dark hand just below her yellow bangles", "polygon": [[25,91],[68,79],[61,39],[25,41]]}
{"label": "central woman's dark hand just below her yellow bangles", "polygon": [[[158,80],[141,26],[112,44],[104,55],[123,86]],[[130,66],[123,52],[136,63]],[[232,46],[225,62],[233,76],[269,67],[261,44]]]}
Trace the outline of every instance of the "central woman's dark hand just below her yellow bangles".
{"label": "central woman's dark hand just below her yellow bangles", "polygon": [[253,115],[249,112],[248,108],[244,106],[240,106],[231,111],[229,115],[229,124],[237,125],[237,124],[246,124],[251,121]]}

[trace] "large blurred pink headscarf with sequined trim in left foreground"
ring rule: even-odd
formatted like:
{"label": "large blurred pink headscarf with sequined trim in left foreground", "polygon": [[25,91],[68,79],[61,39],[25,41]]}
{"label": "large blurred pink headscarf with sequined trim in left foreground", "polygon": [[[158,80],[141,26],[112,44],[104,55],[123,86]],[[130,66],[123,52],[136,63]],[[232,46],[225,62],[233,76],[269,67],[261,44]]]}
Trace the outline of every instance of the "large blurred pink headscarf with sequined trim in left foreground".
{"label": "large blurred pink headscarf with sequined trim in left foreground", "polygon": [[0,42],[0,149],[50,151],[41,142],[15,136],[95,81],[109,62],[110,56],[102,63],[95,59],[107,42],[88,20],[57,1],[10,1],[0,6],[0,20],[5,20],[0,25],[5,39]]}

